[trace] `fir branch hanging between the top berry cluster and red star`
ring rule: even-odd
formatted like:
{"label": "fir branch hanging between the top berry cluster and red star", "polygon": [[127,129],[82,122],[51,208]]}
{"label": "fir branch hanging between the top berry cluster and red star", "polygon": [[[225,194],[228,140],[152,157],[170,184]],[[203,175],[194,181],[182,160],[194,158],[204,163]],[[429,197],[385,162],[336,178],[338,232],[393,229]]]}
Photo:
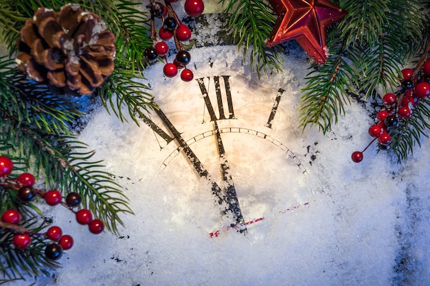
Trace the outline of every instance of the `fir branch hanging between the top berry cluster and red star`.
{"label": "fir branch hanging between the top berry cluster and red star", "polygon": [[[222,0],[224,5],[227,0]],[[282,71],[282,48],[266,47],[267,37],[273,29],[276,16],[265,1],[230,0],[225,12],[231,13],[229,29],[234,29],[234,40],[238,47],[243,47],[244,58],[251,51],[249,61],[251,69],[256,69],[258,76],[262,71],[267,75]]]}

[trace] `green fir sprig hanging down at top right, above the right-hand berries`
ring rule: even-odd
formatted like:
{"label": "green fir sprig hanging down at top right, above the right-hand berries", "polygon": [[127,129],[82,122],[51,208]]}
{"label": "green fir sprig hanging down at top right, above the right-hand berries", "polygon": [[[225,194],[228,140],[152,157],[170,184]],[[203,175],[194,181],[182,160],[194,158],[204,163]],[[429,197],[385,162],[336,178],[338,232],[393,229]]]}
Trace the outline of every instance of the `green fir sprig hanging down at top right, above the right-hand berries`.
{"label": "green fir sprig hanging down at top right, above the right-hand berries", "polygon": [[[339,23],[340,38],[355,55],[352,65],[359,91],[367,97],[396,86],[400,69],[411,54],[411,43],[422,38],[425,6],[422,1],[340,1],[348,14]],[[405,12],[407,11],[407,12]]]}

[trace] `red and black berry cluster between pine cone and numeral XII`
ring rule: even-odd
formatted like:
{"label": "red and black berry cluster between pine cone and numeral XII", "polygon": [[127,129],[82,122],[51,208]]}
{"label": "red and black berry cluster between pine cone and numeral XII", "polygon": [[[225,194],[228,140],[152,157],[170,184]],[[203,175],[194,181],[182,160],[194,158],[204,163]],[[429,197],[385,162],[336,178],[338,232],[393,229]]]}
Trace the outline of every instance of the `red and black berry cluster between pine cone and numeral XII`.
{"label": "red and black berry cluster between pine cone and numeral XII", "polygon": [[[144,55],[148,62],[154,62],[158,57],[163,57],[166,64],[163,67],[163,73],[168,78],[173,78],[177,75],[179,69],[181,71],[181,80],[190,82],[194,78],[194,74],[190,69],[187,69],[187,64],[190,63],[191,56],[188,51],[182,49],[181,42],[190,40],[191,31],[187,25],[184,25],[177,14],[174,12],[171,2],[178,0],[165,0],[163,5],[155,0],[150,0],[147,8],[151,13],[151,38],[154,43],[153,47],[145,49]],[[205,5],[202,0],[185,0],[185,12],[192,17],[200,16],[203,13]],[[155,31],[155,18],[161,19],[163,26],[159,29],[159,37]],[[167,53],[169,51],[167,40],[174,38],[174,44],[177,48],[177,55],[173,62],[168,62]]]}

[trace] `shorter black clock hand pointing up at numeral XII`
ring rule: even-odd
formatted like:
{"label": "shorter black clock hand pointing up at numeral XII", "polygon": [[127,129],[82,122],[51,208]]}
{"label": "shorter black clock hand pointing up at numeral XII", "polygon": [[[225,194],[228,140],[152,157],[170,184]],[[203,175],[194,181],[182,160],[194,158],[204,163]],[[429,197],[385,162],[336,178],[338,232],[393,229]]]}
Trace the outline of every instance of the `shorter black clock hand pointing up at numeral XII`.
{"label": "shorter black clock hand pointing up at numeral XII", "polygon": [[216,120],[214,120],[214,127],[215,127],[215,137],[216,137],[216,145],[218,147],[218,153],[220,155],[221,159],[221,174],[223,175],[223,180],[227,182],[227,188],[226,191],[226,199],[231,206],[233,213],[236,215],[236,224],[240,226],[240,233],[247,231],[247,226],[245,224],[245,220],[242,216],[242,211],[240,211],[238,196],[236,195],[236,189],[234,187],[234,182],[231,176],[228,173],[228,170],[230,169],[229,163],[227,161],[227,157],[225,156],[225,149],[223,145],[223,140],[221,139],[220,130],[218,128],[218,123],[216,123]]}

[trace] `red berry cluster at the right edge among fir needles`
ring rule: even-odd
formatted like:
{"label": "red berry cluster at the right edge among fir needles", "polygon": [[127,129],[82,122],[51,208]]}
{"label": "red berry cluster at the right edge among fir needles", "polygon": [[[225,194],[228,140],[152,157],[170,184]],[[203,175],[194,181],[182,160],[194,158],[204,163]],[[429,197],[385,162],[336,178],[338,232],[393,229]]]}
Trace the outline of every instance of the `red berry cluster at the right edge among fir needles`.
{"label": "red berry cluster at the right edge among fir needles", "polygon": [[[414,111],[414,106],[420,99],[430,95],[430,60],[424,62],[422,73],[419,76],[414,75],[413,69],[403,69],[402,75],[401,91],[397,95],[387,93],[383,96],[382,101],[385,108],[376,114],[377,122],[369,128],[369,134],[374,139],[367,147],[378,140],[380,149],[387,149],[392,141],[389,131],[397,126],[398,119],[409,119],[411,112]],[[363,160],[363,152],[367,150],[367,147],[362,152],[352,153],[351,158],[355,163]]]}

